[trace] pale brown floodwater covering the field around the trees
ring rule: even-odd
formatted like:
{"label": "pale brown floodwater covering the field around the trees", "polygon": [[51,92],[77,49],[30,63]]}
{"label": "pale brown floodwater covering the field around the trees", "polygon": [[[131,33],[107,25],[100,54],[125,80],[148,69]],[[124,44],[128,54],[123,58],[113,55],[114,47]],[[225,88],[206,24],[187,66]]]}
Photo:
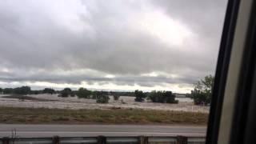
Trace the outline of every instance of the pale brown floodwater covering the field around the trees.
{"label": "pale brown floodwater covering the field around the trees", "polygon": [[[194,106],[190,98],[176,98],[178,104],[134,102],[134,97],[121,96],[118,101],[110,96],[107,104],[98,104],[95,99],[77,97],[61,98],[57,94],[31,94],[34,100],[20,100],[18,98],[3,98],[8,95],[0,95],[0,106],[32,107],[32,108],[58,108],[58,109],[142,109],[142,110],[174,110],[208,113],[209,106]],[[36,100],[38,98],[38,100]],[[40,101],[43,99],[43,101]]]}

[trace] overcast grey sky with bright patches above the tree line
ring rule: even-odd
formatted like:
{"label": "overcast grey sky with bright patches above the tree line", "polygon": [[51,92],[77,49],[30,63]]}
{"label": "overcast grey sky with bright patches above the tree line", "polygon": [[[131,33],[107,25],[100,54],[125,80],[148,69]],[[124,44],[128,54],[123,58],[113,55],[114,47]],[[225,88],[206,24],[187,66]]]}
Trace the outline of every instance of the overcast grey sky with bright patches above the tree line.
{"label": "overcast grey sky with bright patches above the tree line", "polygon": [[186,93],[214,74],[226,0],[0,0],[0,87]]}

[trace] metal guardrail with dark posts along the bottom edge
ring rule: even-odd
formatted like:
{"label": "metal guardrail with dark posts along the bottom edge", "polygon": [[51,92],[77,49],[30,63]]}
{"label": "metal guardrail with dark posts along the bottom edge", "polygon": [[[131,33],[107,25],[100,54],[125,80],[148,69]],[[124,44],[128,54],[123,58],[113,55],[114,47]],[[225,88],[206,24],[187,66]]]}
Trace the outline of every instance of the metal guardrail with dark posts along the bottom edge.
{"label": "metal guardrail with dark posts along the bottom edge", "polygon": [[204,144],[203,137],[58,137],[0,138],[0,144]]}

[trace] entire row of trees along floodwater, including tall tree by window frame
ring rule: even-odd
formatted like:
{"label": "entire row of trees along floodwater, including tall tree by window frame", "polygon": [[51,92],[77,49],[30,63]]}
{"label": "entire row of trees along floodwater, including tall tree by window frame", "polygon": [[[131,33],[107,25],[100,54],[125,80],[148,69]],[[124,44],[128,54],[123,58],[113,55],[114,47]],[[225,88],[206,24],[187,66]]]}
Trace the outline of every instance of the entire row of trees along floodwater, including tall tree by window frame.
{"label": "entire row of trees along floodwater, including tall tree by window frame", "polygon": [[[214,86],[214,76],[208,75],[194,84],[194,90],[186,97],[194,99],[195,105],[210,105],[212,90]],[[21,86],[16,88],[0,88],[0,94],[58,94],[58,97],[74,97],[78,98],[92,98],[96,99],[98,103],[108,103],[109,96],[112,95],[114,100],[118,100],[120,96],[133,96],[135,102],[144,102],[146,99],[151,102],[160,103],[178,103],[175,100],[175,94],[171,91],[156,91],[143,92],[142,90],[134,90],[131,92],[119,91],[98,91],[87,90],[86,88],[79,88],[78,90],[71,90],[65,88],[63,90],[54,90],[45,88],[43,90],[31,90],[30,86]]]}

